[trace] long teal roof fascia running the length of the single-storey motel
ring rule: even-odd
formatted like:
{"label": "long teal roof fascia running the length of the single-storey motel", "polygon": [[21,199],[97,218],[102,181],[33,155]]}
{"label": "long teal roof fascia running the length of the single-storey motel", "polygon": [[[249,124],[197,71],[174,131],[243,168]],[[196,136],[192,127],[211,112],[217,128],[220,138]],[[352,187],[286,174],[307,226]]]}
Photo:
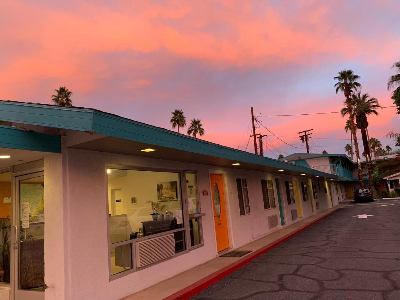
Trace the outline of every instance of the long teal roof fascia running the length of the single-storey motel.
{"label": "long teal roof fascia running the length of the single-storey motel", "polygon": [[103,134],[155,146],[302,172],[329,178],[334,175],[214,144],[184,134],[136,122],[99,110],[0,101],[0,120]]}

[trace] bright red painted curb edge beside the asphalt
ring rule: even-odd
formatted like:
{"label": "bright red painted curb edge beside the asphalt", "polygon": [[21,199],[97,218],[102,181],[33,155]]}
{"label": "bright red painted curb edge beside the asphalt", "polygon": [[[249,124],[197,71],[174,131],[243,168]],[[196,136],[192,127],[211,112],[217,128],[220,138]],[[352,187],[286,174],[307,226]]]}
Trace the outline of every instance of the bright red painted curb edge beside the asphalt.
{"label": "bright red painted curb edge beside the asphalt", "polygon": [[287,234],[286,236],[282,236],[282,238],[254,251],[249,256],[246,256],[240,260],[237,260],[236,262],[222,268],[221,270],[218,270],[218,271],[196,281],[195,283],[191,284],[190,286],[186,286],[186,288],[179,290],[178,292],[164,298],[163,300],[187,300],[190,297],[193,297],[194,295],[198,294],[205,288],[208,288],[210,285],[217,282],[218,280],[221,280],[222,278],[229,275],[230,273],[232,273],[232,272],[236,271],[237,269],[241,268],[242,266],[248,264],[250,261],[254,260],[258,256],[268,252],[269,250],[278,246],[279,244],[282,244],[284,241],[288,240],[292,236],[295,236],[296,234],[303,231],[304,229],[312,226],[313,224],[315,224],[319,220],[325,218],[326,216],[329,216],[330,214],[332,214],[332,212],[336,212],[338,209],[340,209],[340,208],[337,208],[336,210],[332,210],[331,212],[328,212],[326,215],[321,216],[318,219],[300,227],[298,230],[296,230],[290,234]]}

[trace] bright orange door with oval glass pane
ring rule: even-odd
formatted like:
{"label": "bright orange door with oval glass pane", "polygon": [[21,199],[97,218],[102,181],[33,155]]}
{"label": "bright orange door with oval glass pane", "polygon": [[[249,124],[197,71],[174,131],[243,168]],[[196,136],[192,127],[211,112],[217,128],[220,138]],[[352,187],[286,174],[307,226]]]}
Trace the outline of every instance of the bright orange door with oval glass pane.
{"label": "bright orange door with oval glass pane", "polygon": [[214,204],[215,236],[217,251],[229,248],[228,222],[226,222],[224,185],[222,175],[211,174],[212,203]]}

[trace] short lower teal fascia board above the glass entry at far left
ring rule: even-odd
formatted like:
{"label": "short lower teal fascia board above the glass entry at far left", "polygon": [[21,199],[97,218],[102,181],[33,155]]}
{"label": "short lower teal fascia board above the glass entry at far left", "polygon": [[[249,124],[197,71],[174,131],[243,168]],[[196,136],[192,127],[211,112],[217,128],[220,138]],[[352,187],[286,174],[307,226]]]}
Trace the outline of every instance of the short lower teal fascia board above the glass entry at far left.
{"label": "short lower teal fascia board above the glass entry at far left", "polygon": [[61,153],[61,138],[0,125],[0,147]]}

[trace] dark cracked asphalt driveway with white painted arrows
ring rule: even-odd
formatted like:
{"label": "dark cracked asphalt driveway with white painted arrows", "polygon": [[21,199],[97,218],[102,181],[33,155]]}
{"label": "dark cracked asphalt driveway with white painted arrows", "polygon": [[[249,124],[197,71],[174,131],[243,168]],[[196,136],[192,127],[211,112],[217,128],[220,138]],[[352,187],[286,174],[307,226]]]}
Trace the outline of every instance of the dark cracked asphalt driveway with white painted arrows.
{"label": "dark cracked asphalt driveway with white painted arrows", "polygon": [[351,203],[191,299],[400,300],[400,201]]}

